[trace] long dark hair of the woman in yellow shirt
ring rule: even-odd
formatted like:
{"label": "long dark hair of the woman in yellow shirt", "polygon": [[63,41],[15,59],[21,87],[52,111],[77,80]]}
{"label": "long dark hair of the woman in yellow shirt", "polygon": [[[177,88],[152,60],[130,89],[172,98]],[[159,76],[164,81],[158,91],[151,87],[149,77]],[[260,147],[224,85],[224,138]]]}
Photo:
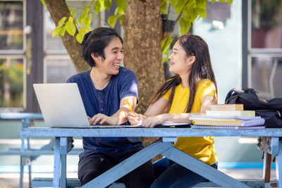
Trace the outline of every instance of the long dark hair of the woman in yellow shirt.
{"label": "long dark hair of the woman in yellow shirt", "polygon": [[[186,107],[186,113],[190,113],[193,101],[195,99],[197,82],[199,82],[201,79],[209,79],[216,86],[216,79],[214,77],[214,70],[212,69],[211,58],[209,56],[209,46],[206,42],[204,42],[204,39],[202,39],[202,37],[186,34],[179,37],[178,42],[186,51],[186,56],[195,56],[195,62],[192,64],[190,76],[188,77],[190,96]],[[161,86],[159,91],[154,94],[154,96],[152,96],[150,103],[154,104],[154,102],[159,100],[161,96],[164,96],[164,94],[166,94],[166,92],[171,89],[171,94],[169,96],[167,106],[168,112],[171,108],[176,86],[178,86],[181,82],[182,81],[179,75],[171,77],[166,83]]]}

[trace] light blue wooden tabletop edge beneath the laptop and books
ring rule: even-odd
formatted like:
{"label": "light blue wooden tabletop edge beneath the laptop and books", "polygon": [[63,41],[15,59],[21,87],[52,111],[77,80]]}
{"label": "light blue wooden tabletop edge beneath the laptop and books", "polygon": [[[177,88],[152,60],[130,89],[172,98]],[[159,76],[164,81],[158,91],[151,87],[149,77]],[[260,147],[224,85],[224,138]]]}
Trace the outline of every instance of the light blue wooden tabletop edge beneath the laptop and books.
{"label": "light blue wooden tabletop edge beneath the laptop and books", "polygon": [[200,130],[183,127],[32,127],[20,130],[19,135],[23,137],[282,137],[282,128],[261,130]]}

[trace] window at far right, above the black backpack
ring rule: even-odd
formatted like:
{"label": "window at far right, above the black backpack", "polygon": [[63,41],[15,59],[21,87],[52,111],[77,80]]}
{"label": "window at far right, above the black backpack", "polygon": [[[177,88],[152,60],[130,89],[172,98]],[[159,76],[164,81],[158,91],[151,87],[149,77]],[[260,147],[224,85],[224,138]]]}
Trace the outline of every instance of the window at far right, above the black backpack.
{"label": "window at far right, above the black backpack", "polygon": [[282,0],[249,1],[247,86],[261,99],[282,97]]}

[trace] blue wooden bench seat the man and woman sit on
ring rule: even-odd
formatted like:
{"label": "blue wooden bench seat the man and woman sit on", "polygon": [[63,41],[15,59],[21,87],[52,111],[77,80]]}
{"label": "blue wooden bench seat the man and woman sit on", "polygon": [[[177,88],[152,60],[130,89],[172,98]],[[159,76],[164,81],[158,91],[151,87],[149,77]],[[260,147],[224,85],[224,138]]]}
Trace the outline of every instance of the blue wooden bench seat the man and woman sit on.
{"label": "blue wooden bench seat the man and woman sit on", "polygon": [[[264,187],[264,180],[242,179],[239,181],[249,187]],[[35,177],[32,179],[31,187],[53,187],[53,178]],[[80,187],[80,180],[78,180],[78,178],[67,178],[66,187]],[[215,184],[214,182],[201,182],[196,184],[194,187],[219,187],[219,185]],[[125,188],[125,185],[123,183],[114,183],[111,184],[109,188]]]}

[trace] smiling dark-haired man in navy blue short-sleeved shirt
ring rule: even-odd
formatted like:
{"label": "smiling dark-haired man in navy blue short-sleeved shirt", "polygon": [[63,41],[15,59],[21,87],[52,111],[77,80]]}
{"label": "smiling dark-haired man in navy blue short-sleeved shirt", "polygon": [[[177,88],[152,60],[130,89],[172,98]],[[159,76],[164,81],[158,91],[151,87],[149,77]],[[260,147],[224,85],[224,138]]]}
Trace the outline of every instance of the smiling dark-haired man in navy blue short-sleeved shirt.
{"label": "smiling dark-haired man in navy blue short-sleeved shirt", "polygon": [[[78,84],[90,125],[121,125],[137,103],[137,79],[133,71],[120,67],[123,39],[115,30],[99,27],[88,32],[82,42],[82,56],[91,70],[70,77]],[[137,137],[83,137],[78,178],[86,184],[140,151],[144,146]],[[126,187],[149,187],[154,181],[152,163],[141,165],[121,180]]]}

